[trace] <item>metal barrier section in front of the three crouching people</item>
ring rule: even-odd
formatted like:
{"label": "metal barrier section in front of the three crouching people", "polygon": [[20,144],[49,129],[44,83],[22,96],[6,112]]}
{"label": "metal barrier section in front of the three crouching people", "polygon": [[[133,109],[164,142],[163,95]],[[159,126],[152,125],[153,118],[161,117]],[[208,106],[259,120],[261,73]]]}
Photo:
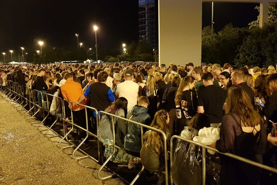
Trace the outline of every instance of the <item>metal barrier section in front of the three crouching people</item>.
{"label": "metal barrier section in front of the three crouching people", "polygon": [[[116,140],[115,140],[115,128],[114,128],[114,119],[113,118],[117,118],[117,119],[121,119],[125,122],[130,122],[130,123],[133,123],[133,124],[136,124],[136,125],[139,125],[140,126],[140,131],[141,131],[141,141],[142,141],[142,146],[143,146],[143,128],[147,128],[149,130],[152,130],[152,131],[155,131],[155,132],[159,132],[160,134],[163,135],[163,139],[164,139],[164,152],[165,152],[165,179],[166,179],[166,185],[168,185],[168,168],[167,168],[167,160],[168,160],[168,155],[167,155],[167,137],[165,135],[165,133],[162,131],[162,130],[159,130],[159,129],[156,129],[156,128],[153,128],[153,127],[150,127],[148,125],[144,125],[142,123],[137,123],[135,121],[132,121],[132,120],[129,120],[129,119],[126,119],[126,118],[122,118],[122,117],[119,117],[119,116],[116,116],[114,114],[110,114],[110,113],[107,113],[107,112],[104,112],[104,111],[100,111],[99,112],[99,119],[100,120],[100,114],[106,114],[108,116],[111,116],[112,117],[112,137],[113,137],[113,153],[110,157],[107,158],[107,160],[103,163],[103,165],[99,168],[98,170],[98,173],[97,173],[97,176],[99,179],[101,180],[104,180],[104,179],[108,179],[110,177],[112,177],[113,175],[115,174],[112,174],[112,175],[109,175],[109,176],[106,176],[106,177],[101,177],[100,176],[100,171],[105,167],[105,165],[110,161],[110,159],[112,158],[112,156],[114,155],[114,153],[116,152],[116,149],[119,149],[119,150],[124,150],[123,148],[121,148],[120,146],[117,146],[116,145]],[[99,121],[100,123],[100,121]],[[137,179],[140,177],[141,173],[143,172],[144,170],[144,166],[142,165],[142,169],[140,170],[140,172],[137,174],[137,176],[135,177],[135,179],[133,179],[133,181],[131,182],[130,185],[133,185],[135,183],[135,181],[137,181]]]}

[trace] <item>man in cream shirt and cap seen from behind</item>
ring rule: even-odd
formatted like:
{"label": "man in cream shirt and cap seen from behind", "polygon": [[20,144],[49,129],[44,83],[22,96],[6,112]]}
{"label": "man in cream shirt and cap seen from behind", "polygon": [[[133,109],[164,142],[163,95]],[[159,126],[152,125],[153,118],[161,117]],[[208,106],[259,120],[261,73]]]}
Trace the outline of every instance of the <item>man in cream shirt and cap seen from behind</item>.
{"label": "man in cream shirt and cap seen from behind", "polygon": [[117,84],[115,94],[128,100],[127,111],[130,111],[137,104],[139,85],[132,81],[133,72],[131,70],[125,71],[124,78],[123,83]]}

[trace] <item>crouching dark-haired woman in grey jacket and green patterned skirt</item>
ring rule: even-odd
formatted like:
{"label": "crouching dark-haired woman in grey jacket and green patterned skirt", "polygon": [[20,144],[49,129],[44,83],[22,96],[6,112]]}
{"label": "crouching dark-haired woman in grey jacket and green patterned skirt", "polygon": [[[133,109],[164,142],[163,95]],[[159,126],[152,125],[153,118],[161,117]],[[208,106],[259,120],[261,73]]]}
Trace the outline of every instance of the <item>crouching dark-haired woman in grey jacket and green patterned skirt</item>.
{"label": "crouching dark-haired woman in grey jacket and green patterned skirt", "polygon": [[[124,97],[118,98],[112,105],[105,109],[105,112],[114,114],[116,116],[126,118],[128,101]],[[112,119],[114,120],[115,141],[113,140],[112,133]],[[103,114],[98,126],[98,139],[105,145],[105,157],[110,157],[113,153],[112,144],[115,142],[118,146],[124,148],[124,137],[127,134],[127,125],[125,121],[119,118],[112,118],[106,114]],[[129,164],[133,164],[133,156],[127,154],[123,150],[116,149],[115,154],[110,159],[114,163],[122,163],[129,161]]]}

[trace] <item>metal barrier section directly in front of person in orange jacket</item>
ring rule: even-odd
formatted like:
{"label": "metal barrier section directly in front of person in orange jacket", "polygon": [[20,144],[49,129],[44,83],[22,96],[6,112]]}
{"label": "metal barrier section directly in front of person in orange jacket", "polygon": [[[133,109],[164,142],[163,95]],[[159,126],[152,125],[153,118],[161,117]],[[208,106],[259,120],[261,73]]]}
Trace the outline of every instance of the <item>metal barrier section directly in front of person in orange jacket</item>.
{"label": "metal barrier section directly in front of person in orange jacket", "polygon": [[[65,107],[64,107],[64,106],[65,106],[65,103],[64,103],[64,102],[68,102],[68,104],[71,104],[71,107],[72,107],[72,103],[74,103],[74,102],[63,99],[63,115],[66,115],[66,112],[65,112],[66,109],[65,109]],[[89,157],[89,158],[95,160],[97,163],[99,163],[99,162],[100,162],[100,158],[101,158],[101,156],[100,156],[100,144],[99,144],[99,140],[98,140],[98,138],[97,138],[97,135],[89,131],[88,117],[87,117],[87,109],[91,109],[91,110],[93,110],[93,111],[96,112],[96,123],[98,123],[98,111],[97,111],[97,109],[95,109],[95,108],[93,108],[93,107],[89,107],[89,106],[87,106],[87,105],[79,104],[79,106],[85,107],[86,128],[82,128],[82,127],[80,127],[78,124],[74,123],[74,121],[73,121],[73,111],[72,111],[72,109],[70,109],[71,120],[64,119],[64,121],[66,121],[67,123],[70,123],[72,126],[71,126],[71,129],[64,135],[64,137],[63,137],[63,138],[61,139],[61,141],[59,142],[59,146],[60,146],[60,148],[62,148],[62,149],[70,148],[70,147],[75,146],[76,148],[75,148],[75,150],[74,150],[73,153],[72,153],[72,156],[73,156],[74,159],[77,159],[77,160],[78,160],[78,159],[83,159],[83,158]],[[86,132],[86,137],[85,137],[84,140],[83,140],[79,145],[77,145],[77,146],[76,146],[75,144],[72,144],[72,143],[70,142],[70,140],[67,139],[67,136],[69,135],[70,132],[72,132],[72,131],[74,130],[74,127],[75,127],[75,128],[79,128],[79,129],[81,129],[81,130],[84,130],[84,131]],[[98,126],[97,126],[97,128],[98,128]],[[91,136],[97,138],[98,159],[96,159],[96,158],[90,156],[87,152],[85,152],[84,150],[80,149],[80,146],[82,146],[82,144],[86,141],[86,139],[89,137],[89,135],[91,135]],[[62,142],[64,139],[66,139],[69,143],[71,143],[71,145],[69,145],[69,146],[61,146],[61,142]],[[79,149],[80,151],[82,151],[83,153],[85,153],[86,156],[76,157],[76,156],[75,156],[75,152],[76,152],[78,149]]]}

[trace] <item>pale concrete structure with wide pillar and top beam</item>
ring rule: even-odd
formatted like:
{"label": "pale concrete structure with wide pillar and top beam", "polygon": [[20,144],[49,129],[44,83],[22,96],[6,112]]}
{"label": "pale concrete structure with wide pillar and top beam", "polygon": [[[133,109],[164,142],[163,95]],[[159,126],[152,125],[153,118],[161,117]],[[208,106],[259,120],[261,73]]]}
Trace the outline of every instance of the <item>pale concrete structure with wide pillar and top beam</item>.
{"label": "pale concrete structure with wide pillar and top beam", "polygon": [[[201,64],[203,0],[158,0],[159,63]],[[206,1],[207,2],[207,1]],[[212,2],[212,1],[208,1]],[[260,3],[260,26],[267,22],[268,2],[277,0],[214,0]]]}

